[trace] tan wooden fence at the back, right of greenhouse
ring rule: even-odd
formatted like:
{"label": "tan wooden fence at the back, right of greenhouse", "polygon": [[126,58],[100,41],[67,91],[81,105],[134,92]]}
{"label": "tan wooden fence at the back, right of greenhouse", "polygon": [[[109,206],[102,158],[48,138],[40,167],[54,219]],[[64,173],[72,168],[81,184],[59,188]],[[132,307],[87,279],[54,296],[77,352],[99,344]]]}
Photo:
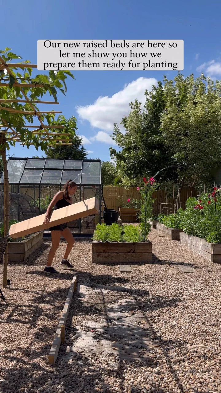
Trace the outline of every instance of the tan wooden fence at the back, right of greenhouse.
{"label": "tan wooden fence at the back, right of greenhouse", "polygon": [[[123,187],[103,187],[103,196],[108,209],[118,210],[120,207],[120,202],[126,204],[127,199],[137,199],[140,200],[140,193],[137,190],[137,187],[130,187],[129,189],[125,189]],[[175,201],[178,200],[178,204],[176,206],[178,208],[185,208],[186,200],[190,196],[197,196],[197,191],[193,187],[183,188],[180,192],[179,198],[175,195]],[[174,205],[173,198],[166,198],[165,190],[158,190],[153,193],[153,214],[158,215],[161,213],[169,214],[173,213]],[[103,211],[103,205],[102,205]]]}

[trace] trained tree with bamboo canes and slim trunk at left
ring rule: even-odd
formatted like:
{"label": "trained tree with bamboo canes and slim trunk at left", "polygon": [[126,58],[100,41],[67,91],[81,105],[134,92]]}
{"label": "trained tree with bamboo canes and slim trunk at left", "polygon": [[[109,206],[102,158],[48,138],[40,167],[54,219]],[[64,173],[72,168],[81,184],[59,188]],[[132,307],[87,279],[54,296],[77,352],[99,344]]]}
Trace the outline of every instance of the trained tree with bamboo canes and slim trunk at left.
{"label": "trained tree with bamboo canes and slim trunk at left", "polygon": [[[55,101],[57,101],[57,90],[63,94],[66,93],[66,75],[74,79],[70,71],[49,71],[49,75],[38,74],[33,77],[32,68],[29,66],[29,61],[24,61],[16,66],[6,67],[13,59],[22,59],[20,56],[12,53],[9,48],[0,51],[0,99],[5,101],[1,103],[1,107],[6,108],[0,110],[0,122],[6,125],[5,132],[0,132],[0,153],[2,156],[4,167],[4,189],[6,198],[4,198],[4,236],[9,230],[9,183],[7,173],[6,149],[10,146],[15,146],[15,138],[10,134],[13,130],[13,136],[17,137],[19,141],[24,143],[27,147],[34,145],[36,149],[39,147],[46,152],[48,146],[55,147],[57,140],[56,136],[48,136],[43,127],[39,127],[39,134],[31,132],[27,128],[27,124],[33,124],[36,118],[40,121],[46,121],[48,125],[52,125],[55,114],[37,114],[39,108],[34,101],[40,100],[45,94],[50,94]],[[22,86],[21,86],[22,84]],[[26,84],[27,86],[24,86]],[[7,101],[9,100],[9,101]],[[11,101],[13,100],[13,101]],[[21,102],[24,100],[25,103]],[[27,113],[30,112],[30,113]],[[53,129],[53,132],[61,133],[61,129]],[[72,136],[75,136],[75,131],[70,130]],[[59,138],[61,140],[61,138]],[[68,141],[68,136],[63,133],[64,140]],[[3,286],[7,283],[7,247],[4,255],[3,268]]]}

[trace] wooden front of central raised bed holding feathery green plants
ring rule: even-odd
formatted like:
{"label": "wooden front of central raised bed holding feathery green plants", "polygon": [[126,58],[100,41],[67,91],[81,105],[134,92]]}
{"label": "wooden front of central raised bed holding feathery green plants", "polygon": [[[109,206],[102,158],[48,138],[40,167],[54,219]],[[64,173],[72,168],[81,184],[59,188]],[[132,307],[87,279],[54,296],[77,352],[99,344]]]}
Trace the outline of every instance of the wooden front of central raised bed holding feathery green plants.
{"label": "wooden front of central raised bed holding feathery green plants", "polygon": [[92,241],[93,263],[151,262],[151,242],[110,242]]}

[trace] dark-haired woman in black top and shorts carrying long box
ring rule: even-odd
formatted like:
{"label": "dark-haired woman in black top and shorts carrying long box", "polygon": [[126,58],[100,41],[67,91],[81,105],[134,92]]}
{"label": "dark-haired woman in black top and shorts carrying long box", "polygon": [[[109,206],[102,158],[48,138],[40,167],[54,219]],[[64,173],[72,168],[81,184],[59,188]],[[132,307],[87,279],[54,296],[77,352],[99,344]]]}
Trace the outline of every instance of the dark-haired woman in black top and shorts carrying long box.
{"label": "dark-haired woman in black top and shorts carrying long box", "polygon": [[[72,204],[71,196],[74,195],[76,191],[77,191],[77,184],[73,182],[71,179],[68,180],[66,184],[64,184],[63,190],[55,194],[55,196],[52,199],[52,202],[48,206],[48,209],[46,211],[46,216],[44,219],[44,224],[48,224],[50,213],[53,207],[55,206],[55,204],[57,209],[64,208],[65,206],[69,206],[70,204]],[[57,270],[55,270],[55,268],[52,267],[52,261],[55,256],[55,252],[59,247],[61,235],[64,237],[64,239],[66,239],[68,244],[66,246],[64,257],[61,260],[60,264],[63,266],[67,266],[68,268],[73,268],[74,266],[70,263],[70,261],[68,261],[68,255],[70,254],[72,247],[74,245],[74,237],[70,229],[68,228],[67,224],[52,226],[50,228],[50,231],[52,233],[52,247],[48,254],[48,262],[46,267],[44,268],[44,272],[59,273],[57,272]]]}

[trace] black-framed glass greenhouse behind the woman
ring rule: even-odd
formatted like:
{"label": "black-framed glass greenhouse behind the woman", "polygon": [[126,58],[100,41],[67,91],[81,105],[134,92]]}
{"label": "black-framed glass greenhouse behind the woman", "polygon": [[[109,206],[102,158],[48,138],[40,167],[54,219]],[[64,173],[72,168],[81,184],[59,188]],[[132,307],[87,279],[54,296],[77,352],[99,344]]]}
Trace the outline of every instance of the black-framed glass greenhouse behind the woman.
{"label": "black-framed glass greenhouse behind the woman", "polygon": [[[29,219],[44,214],[53,196],[71,179],[78,185],[73,203],[96,196],[99,213],[68,223],[77,236],[91,235],[101,222],[101,161],[63,160],[48,158],[14,158],[7,162],[9,176],[9,219]],[[4,174],[0,179],[0,190],[4,190]],[[3,198],[0,198],[3,213]],[[44,231],[50,235],[50,231]]]}

